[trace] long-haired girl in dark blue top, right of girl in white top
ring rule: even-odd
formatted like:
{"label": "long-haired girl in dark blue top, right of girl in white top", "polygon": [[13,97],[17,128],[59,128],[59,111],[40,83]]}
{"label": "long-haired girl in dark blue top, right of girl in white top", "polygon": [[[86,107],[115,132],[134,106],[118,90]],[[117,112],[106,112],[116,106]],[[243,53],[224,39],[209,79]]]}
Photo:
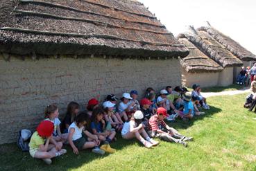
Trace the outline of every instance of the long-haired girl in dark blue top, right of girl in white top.
{"label": "long-haired girl in dark blue top, right of girl in white top", "polygon": [[101,107],[96,107],[92,112],[91,129],[94,135],[99,137],[104,143],[111,143],[116,135],[116,132],[111,129],[110,123],[105,123],[103,120],[104,111]]}

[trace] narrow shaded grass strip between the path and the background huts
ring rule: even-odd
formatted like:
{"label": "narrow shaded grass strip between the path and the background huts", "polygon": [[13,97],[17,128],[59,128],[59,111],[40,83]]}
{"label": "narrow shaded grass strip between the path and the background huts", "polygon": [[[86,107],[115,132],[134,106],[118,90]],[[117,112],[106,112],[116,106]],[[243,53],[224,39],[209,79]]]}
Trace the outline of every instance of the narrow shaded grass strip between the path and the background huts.
{"label": "narrow shaded grass strip between the path and the background huts", "polygon": [[[233,91],[243,89],[244,85],[232,84],[228,87],[205,87],[202,88],[202,92],[221,92],[221,91]],[[192,88],[188,88],[189,91],[193,91]]]}

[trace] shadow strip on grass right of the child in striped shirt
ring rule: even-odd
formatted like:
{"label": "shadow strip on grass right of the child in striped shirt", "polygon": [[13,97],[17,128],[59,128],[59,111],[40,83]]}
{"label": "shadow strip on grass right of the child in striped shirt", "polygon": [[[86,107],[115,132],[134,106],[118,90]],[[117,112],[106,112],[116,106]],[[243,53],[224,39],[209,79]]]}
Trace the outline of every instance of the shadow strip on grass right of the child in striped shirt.
{"label": "shadow strip on grass right of the child in striped shirt", "polygon": [[205,111],[204,115],[194,116],[194,118],[192,118],[191,120],[184,121],[181,119],[176,119],[174,122],[167,122],[167,124],[171,125],[171,127],[175,129],[187,129],[188,127],[191,127],[192,125],[194,125],[194,123],[197,120],[202,120],[203,118],[212,117],[212,115],[219,113],[222,110],[217,107],[210,106],[209,110],[202,110],[202,111]]}

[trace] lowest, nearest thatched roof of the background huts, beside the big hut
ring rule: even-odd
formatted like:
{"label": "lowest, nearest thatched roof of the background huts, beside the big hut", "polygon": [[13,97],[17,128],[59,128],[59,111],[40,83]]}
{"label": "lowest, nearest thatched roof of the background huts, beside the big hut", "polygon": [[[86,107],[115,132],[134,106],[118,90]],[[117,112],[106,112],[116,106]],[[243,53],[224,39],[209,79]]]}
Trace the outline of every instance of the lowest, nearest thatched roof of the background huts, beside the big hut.
{"label": "lowest, nearest thatched roof of the background huts, beside the big hut", "polygon": [[210,57],[207,57],[202,51],[200,51],[194,44],[189,42],[185,35],[180,35],[179,42],[185,44],[189,49],[189,55],[182,60],[180,64],[187,72],[205,72],[205,71],[222,71],[223,67],[214,62]]}

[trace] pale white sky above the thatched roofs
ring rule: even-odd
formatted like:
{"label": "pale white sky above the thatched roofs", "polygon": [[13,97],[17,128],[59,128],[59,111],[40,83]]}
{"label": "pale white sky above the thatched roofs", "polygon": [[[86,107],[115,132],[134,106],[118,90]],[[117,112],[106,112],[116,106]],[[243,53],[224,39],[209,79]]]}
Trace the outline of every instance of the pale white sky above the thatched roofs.
{"label": "pale white sky above the thatched roofs", "polygon": [[256,55],[256,1],[253,0],[139,0],[167,29],[178,35],[186,26],[205,21]]}

